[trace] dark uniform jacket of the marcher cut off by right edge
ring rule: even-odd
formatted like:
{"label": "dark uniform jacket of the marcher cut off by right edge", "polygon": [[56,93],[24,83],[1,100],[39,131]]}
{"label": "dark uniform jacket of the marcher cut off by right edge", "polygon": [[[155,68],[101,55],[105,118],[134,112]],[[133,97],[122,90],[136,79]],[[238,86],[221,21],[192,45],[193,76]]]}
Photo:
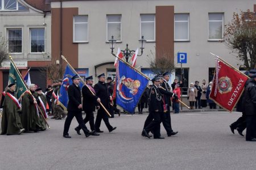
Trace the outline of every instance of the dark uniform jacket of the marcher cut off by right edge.
{"label": "dark uniform jacket of the marcher cut off by right edge", "polygon": [[251,79],[250,83],[245,88],[245,114],[256,115],[256,81]]}

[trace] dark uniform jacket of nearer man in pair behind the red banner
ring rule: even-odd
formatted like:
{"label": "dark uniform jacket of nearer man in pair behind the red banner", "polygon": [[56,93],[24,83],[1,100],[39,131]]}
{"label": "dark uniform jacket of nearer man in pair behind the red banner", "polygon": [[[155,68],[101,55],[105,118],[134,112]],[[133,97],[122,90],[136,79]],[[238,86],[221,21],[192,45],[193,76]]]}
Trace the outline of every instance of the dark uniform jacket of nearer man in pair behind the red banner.
{"label": "dark uniform jacket of nearer man in pair behind the red banner", "polygon": [[159,88],[156,87],[154,84],[150,88],[150,95],[149,95],[149,108],[150,112],[163,112],[163,100],[162,94],[159,91]]}

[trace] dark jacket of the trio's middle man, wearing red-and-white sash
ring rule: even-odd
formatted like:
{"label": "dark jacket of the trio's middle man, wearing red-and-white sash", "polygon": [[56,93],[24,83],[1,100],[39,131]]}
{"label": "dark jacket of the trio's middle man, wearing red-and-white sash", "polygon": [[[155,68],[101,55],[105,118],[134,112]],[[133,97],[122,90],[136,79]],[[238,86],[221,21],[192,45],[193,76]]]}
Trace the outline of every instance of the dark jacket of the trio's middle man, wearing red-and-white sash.
{"label": "dark jacket of the trio's middle man, wearing red-and-white sash", "polygon": [[82,87],[82,109],[85,112],[95,111],[96,105],[98,105],[97,99],[98,97],[93,95],[86,85]]}

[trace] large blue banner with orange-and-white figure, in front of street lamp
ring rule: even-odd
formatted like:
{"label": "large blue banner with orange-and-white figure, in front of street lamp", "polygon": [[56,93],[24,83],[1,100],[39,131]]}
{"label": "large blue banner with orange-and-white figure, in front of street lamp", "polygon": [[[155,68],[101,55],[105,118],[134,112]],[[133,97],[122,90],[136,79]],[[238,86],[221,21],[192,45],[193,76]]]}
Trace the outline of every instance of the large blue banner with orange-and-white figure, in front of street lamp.
{"label": "large blue banner with orange-and-white figure, in front of street lamp", "polygon": [[148,79],[122,61],[118,61],[115,79],[117,104],[125,111],[134,113],[147,87]]}

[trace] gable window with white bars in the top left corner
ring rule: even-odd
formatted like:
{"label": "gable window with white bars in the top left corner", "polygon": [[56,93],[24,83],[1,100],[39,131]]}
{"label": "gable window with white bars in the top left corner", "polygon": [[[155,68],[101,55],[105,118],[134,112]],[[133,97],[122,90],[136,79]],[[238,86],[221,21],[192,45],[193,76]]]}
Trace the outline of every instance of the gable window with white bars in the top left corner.
{"label": "gable window with white bars in the top left corner", "polygon": [[28,10],[28,8],[16,0],[0,0],[0,11]]}

